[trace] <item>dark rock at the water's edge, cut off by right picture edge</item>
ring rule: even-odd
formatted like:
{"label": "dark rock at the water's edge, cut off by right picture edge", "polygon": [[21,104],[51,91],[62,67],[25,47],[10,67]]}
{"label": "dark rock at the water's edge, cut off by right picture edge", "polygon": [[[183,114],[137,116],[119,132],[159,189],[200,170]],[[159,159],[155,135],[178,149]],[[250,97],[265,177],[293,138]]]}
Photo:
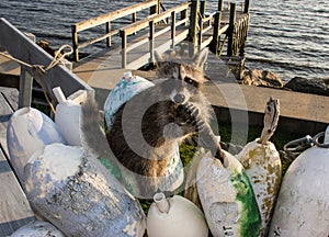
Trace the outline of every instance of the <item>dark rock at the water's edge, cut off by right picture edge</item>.
{"label": "dark rock at the water's edge, cut off by right picture edge", "polygon": [[329,78],[303,78],[294,77],[285,88],[293,91],[313,93],[319,95],[329,95]]}

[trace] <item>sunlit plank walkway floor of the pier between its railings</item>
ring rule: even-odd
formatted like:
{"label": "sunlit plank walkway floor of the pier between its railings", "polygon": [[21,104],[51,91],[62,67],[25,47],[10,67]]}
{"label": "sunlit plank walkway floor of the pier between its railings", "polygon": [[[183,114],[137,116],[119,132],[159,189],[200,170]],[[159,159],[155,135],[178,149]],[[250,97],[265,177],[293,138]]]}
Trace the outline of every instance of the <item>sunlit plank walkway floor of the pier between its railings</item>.
{"label": "sunlit plank walkway floor of the pier between its railings", "polygon": [[[175,44],[179,44],[188,36],[186,27],[177,29]],[[145,35],[136,37],[131,44],[145,38]],[[170,32],[156,37],[155,48],[158,53],[163,53],[172,44]],[[73,72],[95,90],[95,99],[100,104],[105,102],[109,94],[106,89],[113,88],[122,78],[124,71],[136,70],[149,63],[149,42],[139,45],[128,53],[128,64],[122,68],[121,47],[115,49],[104,49],[88,58],[81,59],[75,65]],[[104,83],[106,84],[104,88]]]}

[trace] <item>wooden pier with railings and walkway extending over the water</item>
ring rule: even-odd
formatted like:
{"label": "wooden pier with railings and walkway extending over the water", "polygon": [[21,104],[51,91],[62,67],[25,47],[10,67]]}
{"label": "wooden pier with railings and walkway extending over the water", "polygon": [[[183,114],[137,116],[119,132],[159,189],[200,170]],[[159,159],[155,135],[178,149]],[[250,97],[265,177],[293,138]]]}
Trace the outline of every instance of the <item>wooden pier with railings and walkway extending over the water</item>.
{"label": "wooden pier with railings and walkway extending over the water", "polygon": [[[189,1],[160,12],[159,0],[148,0],[143,3],[110,12],[94,19],[84,20],[72,25],[72,45],[75,48],[73,72],[91,86],[94,79],[107,80],[113,84],[121,77],[122,71],[137,70],[152,64],[155,50],[159,54],[174,50],[183,41],[190,42],[189,54],[194,50],[211,47],[215,54],[223,53],[227,47],[227,55],[232,56],[242,49],[248,30],[249,1],[246,8],[237,11],[236,4],[224,10],[224,1],[218,2],[218,11],[205,13],[206,1]],[[150,15],[140,20],[137,13],[150,11]],[[111,30],[112,22],[133,14],[132,22],[121,29]],[[78,33],[104,24],[104,35],[87,42],[78,42]],[[121,45],[113,46],[114,36],[121,37]],[[227,37],[228,44],[220,37]],[[80,60],[80,48],[106,38],[107,48]],[[224,40],[224,38],[223,38]],[[220,54],[222,54],[220,53]],[[106,75],[112,75],[110,79]],[[120,77],[115,77],[120,75]],[[102,78],[102,79],[101,79]]]}

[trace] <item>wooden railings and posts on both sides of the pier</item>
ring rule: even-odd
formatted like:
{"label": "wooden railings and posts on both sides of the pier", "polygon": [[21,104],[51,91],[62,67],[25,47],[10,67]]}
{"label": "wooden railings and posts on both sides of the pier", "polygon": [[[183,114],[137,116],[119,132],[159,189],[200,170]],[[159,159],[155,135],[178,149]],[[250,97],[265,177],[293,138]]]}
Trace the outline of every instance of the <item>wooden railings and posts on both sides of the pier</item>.
{"label": "wooden railings and posts on both sides of the pier", "polygon": [[[123,68],[127,66],[127,53],[148,42],[150,61],[152,61],[155,38],[161,34],[164,34],[168,31],[171,31],[171,40],[173,46],[174,41],[177,38],[177,29],[180,25],[189,25],[189,30],[186,27],[186,31],[189,31],[188,40],[192,42],[192,45],[194,45],[194,49],[197,47],[204,48],[205,46],[211,46],[211,49],[214,53],[218,54],[218,52],[220,52],[222,54],[224,44],[226,44],[225,42],[228,38],[227,54],[235,55],[238,50],[237,48],[240,48],[245,44],[249,20],[249,14],[246,14],[246,20],[240,22],[239,25],[236,24],[236,4],[237,3],[227,2],[227,9],[224,10],[224,0],[218,0],[218,8],[215,11],[213,11],[213,13],[205,13],[206,1],[202,0],[186,1],[185,3],[181,3],[171,9],[166,9],[164,5],[160,2],[160,0],[148,0],[141,3],[134,4],[132,7],[127,7],[114,12],[100,15],[98,18],[76,23],[75,25],[72,25],[72,46],[75,50],[75,59],[76,61],[79,60],[80,48],[105,38],[106,46],[110,47],[111,37],[114,35],[120,35],[122,37]],[[249,12],[249,0],[241,0],[239,1],[239,4],[241,5],[239,14]],[[150,14],[147,18],[137,21],[137,12],[146,9],[150,10]],[[163,12],[160,13],[160,9],[162,9]],[[227,12],[230,12],[230,21],[223,22],[222,16],[224,14],[226,15],[224,19],[227,19]],[[122,19],[131,14],[133,15],[133,20],[131,22],[126,22],[127,25],[116,30],[111,30],[111,22],[113,23],[114,20]],[[180,14],[179,21],[177,14]],[[168,26],[156,32],[156,29],[159,29],[158,25],[160,24],[160,22],[164,22],[164,26]],[[101,24],[106,25],[105,34],[86,42],[78,43],[79,32],[93,29]],[[132,41],[129,41],[128,43],[129,35],[136,34],[138,31],[141,30],[149,31],[148,37],[145,37],[144,40],[140,40],[137,43],[132,43]],[[226,37],[224,40],[224,43],[220,43],[220,35],[223,34],[225,34]],[[180,34],[180,36],[182,34]],[[222,45],[220,50],[219,45]]]}

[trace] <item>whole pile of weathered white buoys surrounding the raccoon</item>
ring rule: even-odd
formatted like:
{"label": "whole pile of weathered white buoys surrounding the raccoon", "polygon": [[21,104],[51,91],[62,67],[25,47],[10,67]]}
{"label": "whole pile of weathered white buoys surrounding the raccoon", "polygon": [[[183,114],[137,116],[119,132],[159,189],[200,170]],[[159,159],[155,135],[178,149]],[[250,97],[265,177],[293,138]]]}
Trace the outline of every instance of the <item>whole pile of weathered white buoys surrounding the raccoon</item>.
{"label": "whole pile of weathered white buoys surrounding the raccoon", "polygon": [[[236,157],[223,150],[225,162],[201,148],[184,182],[185,198],[158,192],[146,215],[109,167],[83,148],[80,104],[59,88],[54,93],[55,122],[23,108],[8,125],[10,161],[31,206],[46,221],[12,236],[328,236],[329,126],[324,142],[297,157],[281,184],[281,160],[269,142],[280,105],[270,99],[260,138]],[[106,101],[109,126],[116,102]]]}

